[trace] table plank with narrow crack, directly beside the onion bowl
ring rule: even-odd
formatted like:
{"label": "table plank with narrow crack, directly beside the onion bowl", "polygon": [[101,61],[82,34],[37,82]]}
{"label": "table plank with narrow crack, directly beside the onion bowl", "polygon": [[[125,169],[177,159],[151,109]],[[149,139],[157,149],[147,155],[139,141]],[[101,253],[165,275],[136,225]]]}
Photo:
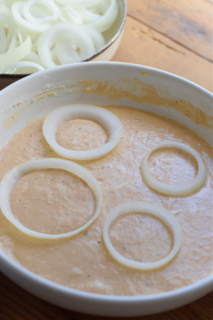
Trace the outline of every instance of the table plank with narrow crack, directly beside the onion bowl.
{"label": "table plank with narrow crack, directly beside the onion bowl", "polygon": [[112,60],[162,69],[212,91],[210,61],[131,17],[127,17],[123,38]]}

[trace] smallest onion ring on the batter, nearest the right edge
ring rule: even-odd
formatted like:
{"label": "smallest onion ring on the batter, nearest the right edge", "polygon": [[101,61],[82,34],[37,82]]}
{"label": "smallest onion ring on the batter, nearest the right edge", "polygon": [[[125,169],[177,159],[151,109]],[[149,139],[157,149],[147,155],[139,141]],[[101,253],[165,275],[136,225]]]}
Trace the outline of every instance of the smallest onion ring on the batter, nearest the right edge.
{"label": "smallest onion ring on the batter, nearest the right edge", "polygon": [[[193,156],[198,163],[198,173],[196,177],[189,182],[176,185],[165,184],[155,179],[148,170],[147,159],[153,151],[163,147],[179,148]],[[141,175],[149,187],[160,193],[170,196],[186,196],[192,194],[203,186],[206,180],[206,168],[201,156],[193,148],[180,142],[168,141],[160,143],[148,151],[141,163]]]}

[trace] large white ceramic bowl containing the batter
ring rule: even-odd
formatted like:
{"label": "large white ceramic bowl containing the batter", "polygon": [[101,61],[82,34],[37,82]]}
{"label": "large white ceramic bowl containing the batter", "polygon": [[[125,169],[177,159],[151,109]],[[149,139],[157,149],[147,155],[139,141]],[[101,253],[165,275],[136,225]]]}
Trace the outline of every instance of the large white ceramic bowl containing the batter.
{"label": "large white ceramic bowl containing the batter", "polygon": [[[82,82],[88,79],[91,81]],[[95,81],[108,82],[108,87],[121,87],[124,94],[117,99],[112,96],[112,99],[103,90],[100,94],[89,93],[89,86],[97,86]],[[137,97],[143,93],[142,84],[150,85],[153,94],[157,94],[159,98],[189,101],[194,108],[212,116],[212,94],[179,76],[120,62],[77,63],[34,73],[0,92],[0,146],[30,121],[48,114],[53,108],[70,104],[70,101],[102,105],[113,103],[154,111],[185,124],[212,145],[212,129],[208,125],[197,124],[177,108],[165,104],[137,102]],[[132,100],[128,98],[127,92]],[[187,113],[186,110],[184,113]],[[195,284],[152,295],[110,296],[82,292],[35,275],[11,261],[1,250],[0,269],[22,288],[46,301],[102,316],[139,316],[162,312],[187,304],[212,290],[212,276],[209,276]]]}

